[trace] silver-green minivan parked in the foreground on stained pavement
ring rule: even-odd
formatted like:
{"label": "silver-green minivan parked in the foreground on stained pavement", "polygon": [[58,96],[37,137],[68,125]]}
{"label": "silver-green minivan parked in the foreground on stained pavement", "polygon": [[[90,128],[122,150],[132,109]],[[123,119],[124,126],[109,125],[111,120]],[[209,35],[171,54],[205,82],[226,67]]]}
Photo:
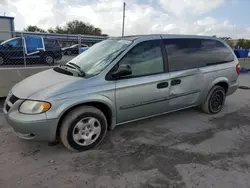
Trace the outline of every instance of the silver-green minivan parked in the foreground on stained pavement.
{"label": "silver-green minivan parked in the foreground on stained pavement", "polygon": [[16,84],[4,114],[21,138],[84,151],[120,124],[196,106],[220,112],[239,72],[232,49],[215,37],[109,38]]}

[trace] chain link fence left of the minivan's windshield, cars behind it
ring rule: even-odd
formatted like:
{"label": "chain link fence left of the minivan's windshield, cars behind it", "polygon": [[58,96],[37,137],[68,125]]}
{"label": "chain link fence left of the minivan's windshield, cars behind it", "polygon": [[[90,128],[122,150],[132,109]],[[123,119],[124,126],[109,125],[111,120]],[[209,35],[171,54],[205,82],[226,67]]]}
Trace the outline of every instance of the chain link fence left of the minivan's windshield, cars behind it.
{"label": "chain link fence left of the minivan's windshield, cars behind it", "polygon": [[0,31],[0,68],[63,64],[103,36]]}

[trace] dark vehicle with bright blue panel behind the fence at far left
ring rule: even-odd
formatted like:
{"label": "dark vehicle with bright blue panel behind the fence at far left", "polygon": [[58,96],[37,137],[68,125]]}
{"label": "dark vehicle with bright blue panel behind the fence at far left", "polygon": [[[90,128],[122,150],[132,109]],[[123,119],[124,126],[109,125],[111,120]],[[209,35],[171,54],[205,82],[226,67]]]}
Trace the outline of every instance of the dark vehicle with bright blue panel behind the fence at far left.
{"label": "dark vehicle with bright blue panel behind the fence at far left", "polygon": [[16,37],[0,44],[0,65],[13,63],[46,63],[53,65],[62,58],[59,41],[43,37]]}

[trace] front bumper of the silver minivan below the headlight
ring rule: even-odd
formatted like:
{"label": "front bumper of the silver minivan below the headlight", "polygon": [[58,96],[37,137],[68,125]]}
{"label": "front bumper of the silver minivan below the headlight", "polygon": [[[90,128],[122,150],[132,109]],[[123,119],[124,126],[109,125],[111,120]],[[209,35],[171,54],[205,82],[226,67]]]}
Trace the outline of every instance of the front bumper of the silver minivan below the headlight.
{"label": "front bumper of the silver minivan below the headlight", "polygon": [[53,142],[56,139],[58,119],[47,119],[46,114],[27,115],[18,111],[23,100],[17,100],[7,111],[8,97],[4,105],[4,117],[14,132],[23,139]]}

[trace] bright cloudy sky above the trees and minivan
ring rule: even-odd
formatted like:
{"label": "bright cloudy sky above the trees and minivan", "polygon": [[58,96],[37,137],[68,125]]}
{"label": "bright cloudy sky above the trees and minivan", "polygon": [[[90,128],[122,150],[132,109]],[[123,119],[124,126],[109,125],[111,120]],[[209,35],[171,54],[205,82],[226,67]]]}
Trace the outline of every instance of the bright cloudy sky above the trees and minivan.
{"label": "bright cloudy sky above the trees and minivan", "polygon": [[[198,34],[250,38],[250,0],[125,0],[125,35]],[[15,29],[63,26],[74,19],[121,35],[123,0],[0,0]],[[1,28],[0,28],[1,30]]]}

